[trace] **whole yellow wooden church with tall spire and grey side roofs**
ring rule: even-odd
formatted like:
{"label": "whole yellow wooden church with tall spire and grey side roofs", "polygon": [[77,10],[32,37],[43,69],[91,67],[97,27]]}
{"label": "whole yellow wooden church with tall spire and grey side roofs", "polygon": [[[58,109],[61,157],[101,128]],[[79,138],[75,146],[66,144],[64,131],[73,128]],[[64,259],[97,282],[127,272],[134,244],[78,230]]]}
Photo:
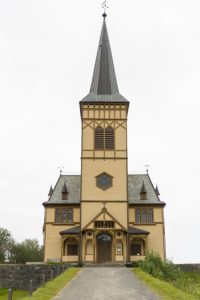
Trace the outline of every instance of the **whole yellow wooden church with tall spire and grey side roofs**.
{"label": "whole yellow wooden church with tall spire and grey side roofs", "polygon": [[[128,174],[129,101],[118,89],[106,13],[89,94],[80,102],[81,174],[60,174],[43,203],[44,261],[165,259],[165,203],[148,172]],[[78,108],[77,108],[78,113]]]}

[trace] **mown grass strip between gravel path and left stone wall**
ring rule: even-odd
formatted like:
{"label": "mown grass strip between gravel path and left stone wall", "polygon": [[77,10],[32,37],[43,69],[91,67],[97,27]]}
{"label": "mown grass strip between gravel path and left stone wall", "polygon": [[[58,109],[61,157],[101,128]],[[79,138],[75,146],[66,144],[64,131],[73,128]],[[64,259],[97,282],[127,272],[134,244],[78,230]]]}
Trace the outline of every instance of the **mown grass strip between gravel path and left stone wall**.
{"label": "mown grass strip between gravel path and left stone wall", "polygon": [[59,291],[79,272],[77,268],[70,268],[52,281],[48,281],[45,285],[37,289],[32,298],[26,297],[23,300],[50,300],[56,296]]}

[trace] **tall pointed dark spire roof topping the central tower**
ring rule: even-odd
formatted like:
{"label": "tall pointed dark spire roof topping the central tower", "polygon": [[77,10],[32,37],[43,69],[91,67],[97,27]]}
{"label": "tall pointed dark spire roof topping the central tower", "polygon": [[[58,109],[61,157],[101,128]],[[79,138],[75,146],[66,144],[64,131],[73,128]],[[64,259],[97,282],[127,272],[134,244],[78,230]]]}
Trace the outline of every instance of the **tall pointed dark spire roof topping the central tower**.
{"label": "tall pointed dark spire roof topping the central tower", "polygon": [[81,102],[126,102],[119,94],[105,18],[89,94]]}

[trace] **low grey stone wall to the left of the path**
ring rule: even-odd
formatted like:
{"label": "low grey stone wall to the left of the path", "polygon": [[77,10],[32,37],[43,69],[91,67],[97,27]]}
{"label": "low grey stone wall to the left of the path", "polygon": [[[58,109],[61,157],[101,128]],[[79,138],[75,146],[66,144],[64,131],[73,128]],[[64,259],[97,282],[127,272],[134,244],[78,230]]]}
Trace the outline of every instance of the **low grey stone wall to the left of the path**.
{"label": "low grey stone wall to the left of the path", "polygon": [[44,282],[60,275],[66,265],[0,265],[0,288],[28,290],[32,280],[33,290]]}

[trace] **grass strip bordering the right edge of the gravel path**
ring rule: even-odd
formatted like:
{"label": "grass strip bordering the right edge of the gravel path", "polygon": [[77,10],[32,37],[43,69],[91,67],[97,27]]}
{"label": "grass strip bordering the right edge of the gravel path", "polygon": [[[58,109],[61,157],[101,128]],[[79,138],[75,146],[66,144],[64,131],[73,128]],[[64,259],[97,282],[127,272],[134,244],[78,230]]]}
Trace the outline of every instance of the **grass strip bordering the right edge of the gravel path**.
{"label": "grass strip bordering the right edge of the gravel path", "polygon": [[188,293],[182,291],[180,288],[177,288],[168,282],[157,279],[139,268],[135,268],[133,272],[139,279],[145,282],[150,287],[150,289],[160,295],[163,300],[200,299],[198,296],[189,295]]}

